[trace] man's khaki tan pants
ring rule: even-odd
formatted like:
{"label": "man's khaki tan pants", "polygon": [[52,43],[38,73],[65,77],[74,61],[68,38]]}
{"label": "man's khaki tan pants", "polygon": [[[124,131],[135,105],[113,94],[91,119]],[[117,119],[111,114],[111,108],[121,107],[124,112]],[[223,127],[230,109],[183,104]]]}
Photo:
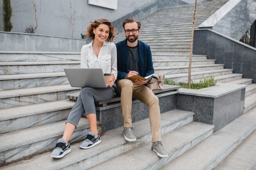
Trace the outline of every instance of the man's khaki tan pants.
{"label": "man's khaki tan pants", "polygon": [[121,94],[121,108],[124,127],[132,127],[132,97],[145,103],[149,107],[149,121],[151,126],[152,142],[161,141],[161,123],[159,100],[145,85],[133,84],[129,79],[116,81],[117,91]]}

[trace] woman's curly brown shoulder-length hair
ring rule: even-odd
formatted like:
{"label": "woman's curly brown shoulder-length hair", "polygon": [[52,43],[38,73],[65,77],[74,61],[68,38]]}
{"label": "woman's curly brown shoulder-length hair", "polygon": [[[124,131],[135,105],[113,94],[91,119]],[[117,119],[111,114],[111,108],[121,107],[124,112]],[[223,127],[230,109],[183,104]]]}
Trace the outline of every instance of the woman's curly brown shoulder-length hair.
{"label": "woman's curly brown shoulder-length hair", "polygon": [[109,20],[103,19],[103,18],[101,18],[99,20],[91,21],[90,26],[87,27],[87,31],[85,33],[86,36],[88,38],[94,40],[95,35],[93,33],[93,28],[96,29],[100,24],[105,24],[105,25],[109,26],[109,35],[108,35],[108,38],[107,38],[106,41],[107,42],[113,42],[113,39],[115,37],[115,28]]}

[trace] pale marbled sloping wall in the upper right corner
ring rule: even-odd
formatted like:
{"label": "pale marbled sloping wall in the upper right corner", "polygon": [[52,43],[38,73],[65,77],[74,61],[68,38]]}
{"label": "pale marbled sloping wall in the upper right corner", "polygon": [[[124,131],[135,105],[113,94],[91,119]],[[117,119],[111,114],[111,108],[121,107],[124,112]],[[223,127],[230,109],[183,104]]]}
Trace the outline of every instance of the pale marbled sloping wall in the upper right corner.
{"label": "pale marbled sloping wall in the upper right corner", "polygon": [[255,0],[229,0],[211,17],[199,25],[240,40],[256,20]]}

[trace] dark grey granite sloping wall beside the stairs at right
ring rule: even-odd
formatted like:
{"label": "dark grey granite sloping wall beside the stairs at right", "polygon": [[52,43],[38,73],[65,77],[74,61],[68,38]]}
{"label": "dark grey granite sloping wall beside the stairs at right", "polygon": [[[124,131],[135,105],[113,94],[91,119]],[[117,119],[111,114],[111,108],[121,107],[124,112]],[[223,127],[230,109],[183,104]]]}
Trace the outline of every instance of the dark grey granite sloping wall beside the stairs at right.
{"label": "dark grey granite sloping wall beside the stairs at right", "polygon": [[225,64],[225,68],[256,83],[256,48],[252,46],[213,30],[195,30],[193,54],[207,55],[207,59]]}

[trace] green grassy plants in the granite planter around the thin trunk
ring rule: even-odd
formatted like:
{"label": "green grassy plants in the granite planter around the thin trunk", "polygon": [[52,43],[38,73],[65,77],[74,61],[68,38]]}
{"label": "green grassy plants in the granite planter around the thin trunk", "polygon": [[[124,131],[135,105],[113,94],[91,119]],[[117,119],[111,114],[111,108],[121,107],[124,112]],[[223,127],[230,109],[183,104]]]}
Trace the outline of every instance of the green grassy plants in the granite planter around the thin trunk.
{"label": "green grassy plants in the granite planter around the thin trunk", "polygon": [[[176,85],[181,88],[189,88],[189,83],[175,82],[174,80],[165,79],[164,84]],[[214,76],[208,78],[202,78],[199,82],[193,82],[191,80],[191,89],[201,89],[206,87],[215,86],[217,84],[217,80],[214,79]]]}

